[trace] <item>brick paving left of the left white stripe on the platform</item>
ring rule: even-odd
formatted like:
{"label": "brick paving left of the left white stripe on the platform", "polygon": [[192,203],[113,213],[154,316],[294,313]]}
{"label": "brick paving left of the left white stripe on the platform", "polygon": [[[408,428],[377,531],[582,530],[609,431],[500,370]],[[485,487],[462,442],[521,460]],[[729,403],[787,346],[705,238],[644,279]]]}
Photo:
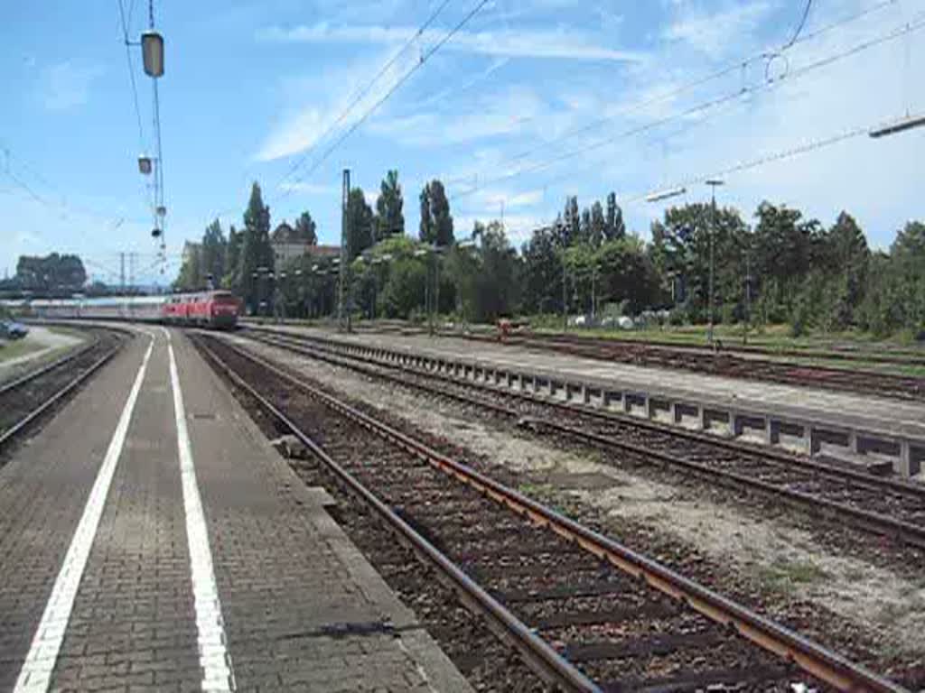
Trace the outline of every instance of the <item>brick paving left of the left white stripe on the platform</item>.
{"label": "brick paving left of the left white stripe on the platform", "polygon": [[0,690],[11,690],[146,343],[136,339],[0,468]]}

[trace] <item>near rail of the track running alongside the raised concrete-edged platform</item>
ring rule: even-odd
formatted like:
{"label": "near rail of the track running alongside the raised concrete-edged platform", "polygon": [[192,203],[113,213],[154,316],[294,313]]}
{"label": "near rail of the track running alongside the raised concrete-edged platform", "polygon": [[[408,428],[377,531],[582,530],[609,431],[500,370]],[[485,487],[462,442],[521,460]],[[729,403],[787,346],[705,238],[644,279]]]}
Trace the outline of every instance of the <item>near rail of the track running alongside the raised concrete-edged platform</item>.
{"label": "near rail of the track running alongside the raised concrete-edged platform", "polygon": [[[438,387],[427,385],[425,383],[410,383],[402,378],[388,373],[383,373],[380,371],[374,371],[372,369],[365,368],[364,366],[359,366],[354,363],[345,362],[337,358],[330,358],[325,356],[319,356],[314,354],[309,349],[304,349],[303,347],[286,345],[285,343],[274,343],[272,340],[263,340],[258,341],[263,342],[267,345],[273,346],[283,346],[285,348],[290,348],[291,350],[301,351],[306,355],[311,355],[314,359],[324,360],[327,363],[339,366],[341,368],[350,368],[354,371],[362,372],[365,375],[370,375],[373,377],[381,378],[388,380],[391,383],[397,383],[404,385],[406,387],[415,387],[417,389],[423,390],[432,395],[442,396],[455,401],[461,402],[462,404],[475,405],[477,407],[482,407],[494,411],[501,415],[506,415],[512,418],[518,419],[518,425],[525,426],[535,426],[535,427],[545,427],[555,432],[560,432],[570,437],[578,439],[583,443],[591,443],[598,447],[607,448],[616,448],[623,450],[624,452],[629,452],[634,455],[641,456],[643,459],[655,459],[658,460],[662,465],[673,466],[673,467],[682,467],[688,471],[694,472],[697,475],[706,478],[715,480],[719,478],[721,481],[727,481],[731,486],[745,486],[746,488],[755,489],[759,492],[765,492],[771,494],[777,498],[781,498],[791,505],[794,505],[797,508],[806,510],[809,513],[823,517],[826,519],[831,519],[833,516],[846,516],[852,523],[859,527],[860,529],[867,529],[878,535],[886,536],[893,538],[897,541],[906,541],[908,544],[913,546],[918,546],[920,548],[925,548],[925,528],[919,527],[918,525],[913,525],[909,522],[895,519],[894,517],[888,517],[879,513],[871,512],[870,510],[861,510],[852,505],[845,505],[837,503],[835,501],[830,501],[824,498],[818,498],[813,496],[810,493],[794,491],[792,489],[785,488],[783,486],[776,486],[772,483],[762,480],[752,479],[743,474],[739,474],[728,469],[710,467],[699,462],[694,462],[692,460],[686,460],[684,457],[673,456],[669,453],[663,453],[656,450],[653,450],[650,447],[643,445],[625,443],[611,436],[604,436],[598,433],[586,432],[581,429],[574,428],[567,424],[562,424],[556,421],[549,419],[539,419],[536,417],[524,417],[521,416],[521,413],[515,409],[509,407],[503,407],[501,405],[494,404],[492,402],[487,402],[480,399],[475,399],[473,397],[468,397],[466,395],[461,395],[459,393],[447,392],[441,390]],[[392,365],[392,364],[388,364]],[[403,367],[402,367],[403,368]],[[427,373],[423,371],[417,371],[415,369],[407,369],[409,372],[422,375],[433,375],[435,378],[439,377],[436,374]],[[450,383],[457,383],[457,381],[449,380]],[[465,383],[471,384],[471,383]],[[473,385],[478,388],[478,385]],[[488,388],[481,388],[487,390],[487,392],[500,392],[489,390]],[[500,392],[500,394],[507,395],[508,393]],[[511,393],[511,395],[520,395],[517,393]],[[567,407],[573,412],[578,412],[584,414],[584,410],[575,409],[574,407],[569,407],[562,403],[556,402],[547,402],[546,400],[535,399],[526,395],[526,398],[531,402],[537,404],[550,404],[561,407]],[[711,440],[706,441],[707,443],[712,443]],[[750,450],[748,452],[751,452]],[[757,451],[759,454],[761,451]],[[876,479],[874,477],[873,479]]]}

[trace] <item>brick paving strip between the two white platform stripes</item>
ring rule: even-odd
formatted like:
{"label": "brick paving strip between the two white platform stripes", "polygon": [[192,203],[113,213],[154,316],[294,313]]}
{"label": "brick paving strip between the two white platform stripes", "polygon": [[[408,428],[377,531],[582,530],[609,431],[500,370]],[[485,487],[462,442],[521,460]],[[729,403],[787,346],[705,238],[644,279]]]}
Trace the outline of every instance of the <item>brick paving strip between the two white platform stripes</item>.
{"label": "brick paving strip between the two white platform stripes", "polygon": [[203,679],[164,335],[156,340],[53,688],[199,690]]}

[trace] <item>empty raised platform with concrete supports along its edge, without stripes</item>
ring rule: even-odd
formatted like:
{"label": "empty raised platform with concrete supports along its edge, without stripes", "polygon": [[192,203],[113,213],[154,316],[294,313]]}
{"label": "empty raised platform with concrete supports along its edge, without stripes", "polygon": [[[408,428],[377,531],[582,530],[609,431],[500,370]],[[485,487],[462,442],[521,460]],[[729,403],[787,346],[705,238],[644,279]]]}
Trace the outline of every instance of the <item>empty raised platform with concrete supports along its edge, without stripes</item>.
{"label": "empty raised platform with concrete supports along its edge, without stripes", "polygon": [[453,337],[339,334],[265,325],[325,340],[350,353],[452,377],[616,409],[727,437],[864,464],[892,463],[900,477],[925,466],[925,403],[606,362]]}

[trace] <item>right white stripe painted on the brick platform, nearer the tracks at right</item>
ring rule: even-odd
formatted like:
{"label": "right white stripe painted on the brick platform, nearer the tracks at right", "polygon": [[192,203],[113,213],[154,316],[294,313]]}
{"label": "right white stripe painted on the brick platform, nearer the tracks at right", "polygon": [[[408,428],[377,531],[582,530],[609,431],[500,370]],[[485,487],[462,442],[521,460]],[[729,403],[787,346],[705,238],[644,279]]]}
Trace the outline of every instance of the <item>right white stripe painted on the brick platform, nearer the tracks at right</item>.
{"label": "right white stripe painted on the brick platform, nearer the tracks at right", "polygon": [[164,329],[164,334],[167,336],[167,351],[170,355],[170,383],[174,395],[174,417],[177,419],[179,472],[183,486],[186,536],[190,544],[192,592],[196,605],[196,629],[199,631],[199,663],[203,667],[203,691],[233,691],[234,670],[231,666],[231,655],[225,646],[222,605],[218,601],[209,535],[205,529],[203,502],[199,496],[199,486],[196,484],[196,468],[192,461],[190,434],[186,428],[186,409],[183,407],[183,392],[179,386],[177,360],[174,359],[170,333]]}

